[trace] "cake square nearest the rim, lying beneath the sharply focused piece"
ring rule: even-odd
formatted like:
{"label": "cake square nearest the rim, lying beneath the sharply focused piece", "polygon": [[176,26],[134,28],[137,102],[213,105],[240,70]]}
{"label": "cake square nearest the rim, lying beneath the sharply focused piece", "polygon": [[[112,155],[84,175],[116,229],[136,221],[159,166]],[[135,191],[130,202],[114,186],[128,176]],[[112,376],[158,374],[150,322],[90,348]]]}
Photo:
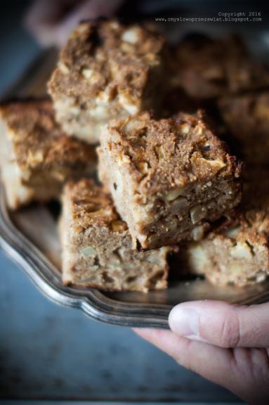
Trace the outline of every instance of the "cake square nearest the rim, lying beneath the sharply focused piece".
{"label": "cake square nearest the rim, lying beneath the sharply focused piece", "polygon": [[171,249],[134,252],[126,223],[93,180],[65,186],[60,238],[65,284],[142,292],[166,288]]}

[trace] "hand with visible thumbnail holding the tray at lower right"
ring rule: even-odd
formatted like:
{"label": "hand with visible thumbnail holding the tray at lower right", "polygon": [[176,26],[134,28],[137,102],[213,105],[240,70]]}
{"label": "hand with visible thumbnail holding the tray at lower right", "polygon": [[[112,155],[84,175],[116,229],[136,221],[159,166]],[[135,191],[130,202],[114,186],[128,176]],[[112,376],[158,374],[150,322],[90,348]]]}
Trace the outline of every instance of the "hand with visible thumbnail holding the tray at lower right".
{"label": "hand with visible thumbnail holding the tray at lower right", "polygon": [[135,329],[142,338],[248,404],[269,404],[269,304],[178,304],[171,330]]}

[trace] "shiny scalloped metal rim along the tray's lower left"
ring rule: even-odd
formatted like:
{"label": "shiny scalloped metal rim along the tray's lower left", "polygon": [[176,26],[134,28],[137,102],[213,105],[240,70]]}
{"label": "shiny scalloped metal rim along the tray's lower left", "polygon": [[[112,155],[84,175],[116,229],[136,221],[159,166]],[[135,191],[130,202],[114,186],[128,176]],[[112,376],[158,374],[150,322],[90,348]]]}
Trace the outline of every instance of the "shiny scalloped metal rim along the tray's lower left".
{"label": "shiny scalloped metal rim along the tray's lower left", "polygon": [[122,303],[98,290],[66,287],[56,276],[53,264],[12,223],[0,184],[0,246],[48,298],[67,307],[80,308],[91,318],[130,327],[168,328],[171,306],[165,304]]}

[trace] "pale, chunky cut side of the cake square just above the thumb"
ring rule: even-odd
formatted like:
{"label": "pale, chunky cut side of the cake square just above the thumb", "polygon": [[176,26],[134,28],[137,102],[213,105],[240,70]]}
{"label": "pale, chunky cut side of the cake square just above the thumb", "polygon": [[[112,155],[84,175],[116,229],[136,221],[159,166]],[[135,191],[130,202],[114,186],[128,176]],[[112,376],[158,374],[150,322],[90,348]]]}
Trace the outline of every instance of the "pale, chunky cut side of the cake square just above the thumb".
{"label": "pale, chunky cut side of the cake square just above the thumb", "polygon": [[[237,228],[230,230],[235,235]],[[220,235],[191,243],[186,248],[185,264],[192,274],[205,274],[212,283],[246,285],[268,276],[269,253],[265,245]]]}

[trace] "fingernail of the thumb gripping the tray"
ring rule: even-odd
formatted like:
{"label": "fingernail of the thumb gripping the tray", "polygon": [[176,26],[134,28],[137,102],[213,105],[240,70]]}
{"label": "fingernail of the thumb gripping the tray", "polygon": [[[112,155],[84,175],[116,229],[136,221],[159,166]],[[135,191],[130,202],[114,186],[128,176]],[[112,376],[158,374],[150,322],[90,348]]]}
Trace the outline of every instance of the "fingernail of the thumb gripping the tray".
{"label": "fingernail of the thumb gripping the tray", "polygon": [[173,307],[169,314],[169,326],[178,335],[199,338],[199,314],[193,308]]}

